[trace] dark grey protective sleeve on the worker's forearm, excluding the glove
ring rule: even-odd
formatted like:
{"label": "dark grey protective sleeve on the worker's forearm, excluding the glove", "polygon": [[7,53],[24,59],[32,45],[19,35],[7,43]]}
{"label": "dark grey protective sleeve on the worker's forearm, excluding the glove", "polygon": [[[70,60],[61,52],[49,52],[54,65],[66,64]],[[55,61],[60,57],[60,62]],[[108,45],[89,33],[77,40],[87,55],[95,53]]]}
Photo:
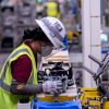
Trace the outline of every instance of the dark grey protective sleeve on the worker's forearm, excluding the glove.
{"label": "dark grey protective sleeve on the worker's forearm, excluding the glove", "polygon": [[17,83],[15,81],[11,84],[11,93],[17,94],[17,95],[35,95],[43,93],[43,85],[27,85]]}

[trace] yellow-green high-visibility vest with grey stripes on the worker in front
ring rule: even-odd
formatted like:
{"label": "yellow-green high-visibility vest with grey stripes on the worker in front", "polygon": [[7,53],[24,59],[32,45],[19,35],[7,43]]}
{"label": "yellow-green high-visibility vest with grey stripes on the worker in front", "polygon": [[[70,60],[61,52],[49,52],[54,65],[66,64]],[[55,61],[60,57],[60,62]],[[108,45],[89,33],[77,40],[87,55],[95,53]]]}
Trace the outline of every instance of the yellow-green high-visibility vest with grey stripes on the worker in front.
{"label": "yellow-green high-visibility vest with grey stripes on the worker in front", "polygon": [[0,109],[17,109],[17,102],[24,96],[14,95],[10,92],[10,86],[12,83],[12,72],[11,72],[11,63],[22,55],[27,55],[32,61],[32,72],[27,84],[36,85],[37,84],[37,70],[36,62],[33,51],[28,46],[22,44],[17,47],[7,59],[1,73],[0,73]]}

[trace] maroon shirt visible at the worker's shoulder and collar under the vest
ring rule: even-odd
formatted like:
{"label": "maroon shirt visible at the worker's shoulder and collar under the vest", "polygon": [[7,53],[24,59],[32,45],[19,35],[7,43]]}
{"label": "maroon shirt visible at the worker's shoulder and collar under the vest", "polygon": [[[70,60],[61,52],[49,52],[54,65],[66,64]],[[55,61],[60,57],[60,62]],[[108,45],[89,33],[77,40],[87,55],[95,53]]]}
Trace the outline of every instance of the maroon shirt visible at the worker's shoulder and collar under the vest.
{"label": "maroon shirt visible at the worker's shoulder and collar under the vest", "polygon": [[[26,43],[26,45],[31,48],[28,43]],[[17,60],[13,61],[11,64],[11,72],[14,80],[20,83],[27,83],[32,73],[32,61],[29,57],[23,55],[19,57]]]}

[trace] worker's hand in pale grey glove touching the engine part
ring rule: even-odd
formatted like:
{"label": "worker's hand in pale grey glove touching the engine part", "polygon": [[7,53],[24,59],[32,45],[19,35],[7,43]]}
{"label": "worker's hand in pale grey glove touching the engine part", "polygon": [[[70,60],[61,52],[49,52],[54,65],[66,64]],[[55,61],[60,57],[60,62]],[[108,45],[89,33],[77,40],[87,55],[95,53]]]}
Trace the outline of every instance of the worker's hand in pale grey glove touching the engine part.
{"label": "worker's hand in pale grey glove touching the engine part", "polygon": [[61,81],[46,81],[43,84],[44,93],[55,93],[62,92],[62,82]]}

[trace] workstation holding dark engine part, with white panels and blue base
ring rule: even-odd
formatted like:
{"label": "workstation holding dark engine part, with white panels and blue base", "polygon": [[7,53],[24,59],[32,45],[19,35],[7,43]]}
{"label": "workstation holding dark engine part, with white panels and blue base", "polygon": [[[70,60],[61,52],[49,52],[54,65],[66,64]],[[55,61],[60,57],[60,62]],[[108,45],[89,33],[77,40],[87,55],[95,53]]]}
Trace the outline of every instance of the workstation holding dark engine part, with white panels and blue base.
{"label": "workstation holding dark engine part, with white panels and blue base", "polygon": [[37,95],[32,104],[32,109],[36,109],[36,107],[37,109],[81,109],[68,50],[59,51],[41,62],[38,82],[62,81],[63,89]]}

